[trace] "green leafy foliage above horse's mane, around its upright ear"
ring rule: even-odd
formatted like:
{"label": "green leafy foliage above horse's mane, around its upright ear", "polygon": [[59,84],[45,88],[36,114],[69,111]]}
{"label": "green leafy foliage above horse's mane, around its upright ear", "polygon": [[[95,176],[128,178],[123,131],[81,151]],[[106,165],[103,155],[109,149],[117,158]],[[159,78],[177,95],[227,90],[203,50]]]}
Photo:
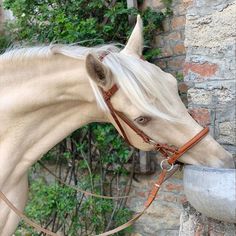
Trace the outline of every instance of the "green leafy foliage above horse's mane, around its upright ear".
{"label": "green leafy foliage above horse's mane, around its upright ear", "polygon": [[[143,12],[134,8],[127,9],[125,0],[115,3],[102,0],[5,0],[4,7],[10,9],[16,17],[16,20],[9,22],[7,26],[11,41],[27,41],[27,44],[125,44],[132,30],[129,16],[141,14],[144,21],[145,45],[150,45],[156,30],[162,27],[163,19],[169,14],[168,10],[165,13],[157,13],[150,8]],[[145,50],[149,60],[157,56],[156,53],[156,50]]]}

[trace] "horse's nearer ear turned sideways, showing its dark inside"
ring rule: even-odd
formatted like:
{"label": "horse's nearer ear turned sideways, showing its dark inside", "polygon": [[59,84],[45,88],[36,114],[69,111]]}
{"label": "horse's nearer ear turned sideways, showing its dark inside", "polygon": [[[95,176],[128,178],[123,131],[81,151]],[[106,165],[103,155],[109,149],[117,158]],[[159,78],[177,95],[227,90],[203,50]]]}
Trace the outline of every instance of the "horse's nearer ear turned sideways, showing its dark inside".
{"label": "horse's nearer ear turned sideways, showing its dark inside", "polygon": [[112,72],[95,55],[89,53],[85,59],[86,70],[89,77],[100,87],[112,86]]}

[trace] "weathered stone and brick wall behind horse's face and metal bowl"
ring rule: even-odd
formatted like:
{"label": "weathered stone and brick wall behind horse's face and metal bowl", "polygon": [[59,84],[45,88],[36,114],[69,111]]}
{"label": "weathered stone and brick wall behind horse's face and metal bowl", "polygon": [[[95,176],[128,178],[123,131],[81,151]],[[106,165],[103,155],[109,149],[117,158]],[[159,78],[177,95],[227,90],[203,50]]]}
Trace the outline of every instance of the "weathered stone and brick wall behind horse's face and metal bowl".
{"label": "weathered stone and brick wall behind horse's face and metal bowl", "polygon": [[[159,0],[147,0],[145,4],[163,9]],[[232,0],[173,0],[173,17],[164,22],[164,32],[157,32],[155,42],[162,49],[155,63],[173,75],[183,73],[179,89],[188,92],[190,113],[202,126],[210,126],[213,137],[233,154],[235,4]],[[141,210],[159,172],[137,176],[139,182],[133,188],[137,198],[130,201],[132,209]],[[236,225],[209,219],[194,210],[186,201],[178,174],[165,184],[159,199],[135,224],[135,231],[137,236],[236,236]]]}

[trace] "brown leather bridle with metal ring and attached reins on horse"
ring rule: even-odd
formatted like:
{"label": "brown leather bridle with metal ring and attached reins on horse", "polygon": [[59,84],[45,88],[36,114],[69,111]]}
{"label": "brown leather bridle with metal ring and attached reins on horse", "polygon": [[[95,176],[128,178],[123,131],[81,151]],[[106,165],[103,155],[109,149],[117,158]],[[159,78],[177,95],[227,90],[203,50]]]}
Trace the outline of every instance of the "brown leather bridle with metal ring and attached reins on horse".
{"label": "brown leather bridle with metal ring and attached reins on horse", "polygon": [[[105,55],[106,56],[106,55]],[[100,57],[100,60],[102,61],[104,57]],[[142,138],[142,140],[145,143],[148,143],[153,146],[153,150],[160,151],[160,153],[163,155],[164,160],[161,162],[161,174],[159,175],[156,183],[154,184],[152,190],[150,191],[150,194],[148,196],[147,201],[144,204],[144,209],[135,215],[131,220],[129,220],[127,223],[113,229],[110,231],[107,231],[105,233],[99,234],[97,236],[107,236],[111,234],[115,234],[130,225],[132,225],[135,221],[137,221],[149,208],[149,206],[152,204],[154,199],[156,198],[156,195],[163,184],[163,182],[168,178],[167,177],[167,172],[171,172],[171,175],[174,174],[174,172],[178,169],[175,168],[176,161],[184,154],[186,153],[189,149],[191,149],[194,145],[196,145],[199,141],[201,141],[205,135],[209,132],[209,128],[206,127],[202,129],[198,134],[196,134],[192,139],[190,139],[187,143],[185,143],[182,147],[177,148],[174,146],[169,146],[168,144],[160,144],[156,141],[154,141],[152,138],[150,138],[147,134],[145,134],[141,129],[139,129],[133,122],[131,122],[122,112],[117,111],[114,109],[112,103],[111,103],[111,98],[112,96],[118,91],[118,86],[114,84],[111,89],[108,91],[104,91],[102,88],[100,88],[104,101],[107,104],[107,107],[109,108],[109,111],[117,124],[118,128],[120,129],[120,132],[122,133],[122,136],[126,140],[126,142],[131,145],[125,130],[120,123],[120,120],[122,120],[126,125],[128,125],[139,137]],[[176,165],[177,166],[177,165]],[[61,181],[60,181],[61,182]],[[65,183],[63,183],[65,184]],[[76,189],[76,188],[75,188]],[[80,189],[76,189],[77,191],[81,191]],[[100,197],[100,198],[109,198],[109,199],[118,199],[121,197],[106,197],[106,196],[101,196],[97,194],[92,194],[86,191],[81,191],[87,195],[94,196],[94,197]],[[125,196],[128,197],[128,196]],[[24,220],[27,224],[35,228],[39,232],[43,232],[46,235],[51,235],[51,236],[58,236],[56,233],[51,232],[50,230],[42,228],[40,225],[37,225],[33,221],[31,221],[29,218],[27,218],[21,211],[19,211],[12,203],[9,201],[9,199],[0,191],[0,199],[3,200],[3,202],[12,210],[15,212],[15,214],[18,215],[19,218]]]}

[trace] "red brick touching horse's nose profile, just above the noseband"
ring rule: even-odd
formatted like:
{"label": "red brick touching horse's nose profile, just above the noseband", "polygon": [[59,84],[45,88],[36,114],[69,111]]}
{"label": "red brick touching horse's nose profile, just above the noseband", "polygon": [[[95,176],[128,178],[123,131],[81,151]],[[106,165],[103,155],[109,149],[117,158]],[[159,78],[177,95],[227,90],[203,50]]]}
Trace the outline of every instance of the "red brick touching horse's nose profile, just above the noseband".
{"label": "red brick touching horse's nose profile, just above the noseband", "polygon": [[189,114],[196,120],[201,126],[207,126],[210,124],[210,113],[205,108],[189,109]]}

